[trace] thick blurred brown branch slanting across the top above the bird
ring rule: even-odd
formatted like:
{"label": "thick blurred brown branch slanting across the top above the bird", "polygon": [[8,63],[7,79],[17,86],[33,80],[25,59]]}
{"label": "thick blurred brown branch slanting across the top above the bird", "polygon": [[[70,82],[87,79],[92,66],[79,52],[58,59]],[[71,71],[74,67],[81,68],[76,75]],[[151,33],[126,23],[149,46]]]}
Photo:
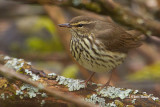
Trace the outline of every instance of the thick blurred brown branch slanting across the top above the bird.
{"label": "thick blurred brown branch slanting across the top above the bird", "polygon": [[[13,0],[20,1],[21,0]],[[23,0],[24,3],[54,4],[59,6],[70,6],[78,9],[86,9],[98,14],[109,15],[116,22],[135,28],[146,35],[160,35],[160,22],[153,19],[146,19],[143,16],[133,13],[113,0]]]}

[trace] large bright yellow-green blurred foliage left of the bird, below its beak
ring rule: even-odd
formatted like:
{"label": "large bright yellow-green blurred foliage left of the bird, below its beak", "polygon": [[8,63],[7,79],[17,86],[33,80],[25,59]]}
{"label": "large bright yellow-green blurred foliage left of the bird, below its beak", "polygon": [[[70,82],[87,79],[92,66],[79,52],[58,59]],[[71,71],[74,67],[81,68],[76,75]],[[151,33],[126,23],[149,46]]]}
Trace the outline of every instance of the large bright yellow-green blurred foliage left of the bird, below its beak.
{"label": "large bright yellow-green blurred foliage left of the bird, below its beak", "polygon": [[[53,51],[62,51],[63,47],[60,43],[60,40],[56,34],[56,28],[52,21],[47,17],[41,17],[33,26],[34,32],[42,32],[46,29],[49,33],[48,36],[44,33],[39,33],[38,35],[32,34],[26,40],[26,45],[28,50],[31,52],[53,52]],[[46,36],[46,37],[45,37]]]}

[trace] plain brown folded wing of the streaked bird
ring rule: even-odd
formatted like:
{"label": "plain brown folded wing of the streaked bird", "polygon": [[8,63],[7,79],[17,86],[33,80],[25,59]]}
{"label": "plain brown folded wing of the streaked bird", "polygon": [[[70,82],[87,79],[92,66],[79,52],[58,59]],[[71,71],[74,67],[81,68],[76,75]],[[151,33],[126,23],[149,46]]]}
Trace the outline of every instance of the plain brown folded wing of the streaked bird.
{"label": "plain brown folded wing of the streaked bird", "polygon": [[139,35],[127,33],[123,28],[115,24],[107,26],[110,26],[110,29],[104,28],[105,30],[99,30],[96,33],[96,38],[102,41],[107,50],[126,53],[130,49],[141,45]]}

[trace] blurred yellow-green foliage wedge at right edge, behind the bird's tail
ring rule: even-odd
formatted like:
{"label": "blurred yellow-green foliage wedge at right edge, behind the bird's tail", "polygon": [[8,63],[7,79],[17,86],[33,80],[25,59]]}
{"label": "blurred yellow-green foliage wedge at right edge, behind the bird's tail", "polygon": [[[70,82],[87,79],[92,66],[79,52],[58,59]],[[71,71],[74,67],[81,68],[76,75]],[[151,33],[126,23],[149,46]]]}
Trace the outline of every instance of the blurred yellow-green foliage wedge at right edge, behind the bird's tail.
{"label": "blurred yellow-green foliage wedge at right edge, behind the bird's tail", "polygon": [[160,80],[160,62],[144,67],[127,77],[130,81]]}

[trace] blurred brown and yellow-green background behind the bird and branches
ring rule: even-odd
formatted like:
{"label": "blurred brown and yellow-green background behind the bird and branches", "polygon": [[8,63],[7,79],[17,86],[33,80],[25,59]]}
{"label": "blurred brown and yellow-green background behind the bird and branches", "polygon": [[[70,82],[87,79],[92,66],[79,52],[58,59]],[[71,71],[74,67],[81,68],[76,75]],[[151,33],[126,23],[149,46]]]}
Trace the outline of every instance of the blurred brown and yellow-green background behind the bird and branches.
{"label": "blurred brown and yellow-green background behind the bird and branches", "polygon": [[[73,61],[69,53],[70,33],[67,29],[59,28],[57,24],[68,22],[79,15],[102,20],[112,19],[109,15],[96,14],[100,11],[96,3],[89,5],[94,7],[92,12],[78,7],[84,0],[55,0],[57,5],[52,6],[43,3],[40,5],[34,1],[0,0],[0,54],[23,58],[31,61],[38,69],[68,78],[86,79],[91,72]],[[63,1],[72,1],[75,8],[60,5]],[[146,19],[160,20],[160,0],[114,1]],[[85,2],[91,3],[92,0]],[[138,21],[141,23],[141,20]],[[133,29],[122,23],[121,25]],[[143,36],[143,45],[130,51],[124,64],[116,68],[111,85],[139,89],[160,97],[160,38],[154,35]],[[101,84],[107,80],[107,73],[96,74],[93,78],[94,82]]]}

